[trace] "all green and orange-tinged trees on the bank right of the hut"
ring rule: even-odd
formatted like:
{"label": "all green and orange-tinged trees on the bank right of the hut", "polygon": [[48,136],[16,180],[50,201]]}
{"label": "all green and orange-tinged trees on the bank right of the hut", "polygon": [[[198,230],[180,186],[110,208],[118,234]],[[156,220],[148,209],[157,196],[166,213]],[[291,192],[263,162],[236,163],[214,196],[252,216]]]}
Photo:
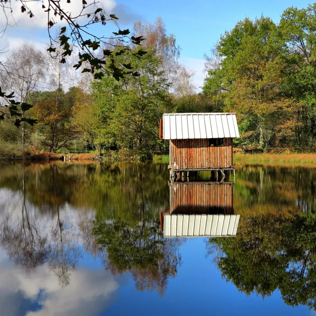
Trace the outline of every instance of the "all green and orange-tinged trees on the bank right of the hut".
{"label": "all green and orange-tinged trees on the bank right of the hut", "polygon": [[315,148],[315,8],[288,8],[278,25],[246,18],[221,36],[203,93],[237,112],[238,145]]}

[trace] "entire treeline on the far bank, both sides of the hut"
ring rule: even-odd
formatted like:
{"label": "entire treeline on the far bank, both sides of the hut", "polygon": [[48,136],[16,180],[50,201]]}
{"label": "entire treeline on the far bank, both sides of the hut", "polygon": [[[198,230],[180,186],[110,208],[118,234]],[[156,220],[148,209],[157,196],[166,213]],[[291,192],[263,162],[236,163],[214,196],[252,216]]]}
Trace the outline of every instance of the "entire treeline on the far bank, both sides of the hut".
{"label": "entire treeline on the far bank, both sides of the hut", "polygon": [[[205,55],[207,75],[199,93],[194,71],[179,63],[181,49],[161,18],[134,24],[132,34],[146,39],[141,57],[132,42],[130,51],[115,48],[113,63],[105,66],[109,73],[121,66],[139,74],[119,80],[94,79],[88,68],[78,75],[71,60],[60,63],[24,43],[4,61],[13,75],[1,74],[0,86],[33,105],[25,115],[38,123],[22,121],[17,128],[2,121],[0,157],[29,148],[101,155],[120,149],[164,152],[168,144],[158,138],[158,119],[170,112],[236,112],[237,146],[313,152],[315,25],[316,4],[288,8],[277,23],[264,16],[239,21]],[[108,48],[102,47],[103,53]]]}

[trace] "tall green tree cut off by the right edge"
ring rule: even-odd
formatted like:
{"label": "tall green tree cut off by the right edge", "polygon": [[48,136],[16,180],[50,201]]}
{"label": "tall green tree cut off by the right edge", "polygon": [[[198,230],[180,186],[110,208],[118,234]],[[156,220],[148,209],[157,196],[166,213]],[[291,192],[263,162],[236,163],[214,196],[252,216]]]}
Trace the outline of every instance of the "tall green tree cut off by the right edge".
{"label": "tall green tree cut off by the right edge", "polygon": [[284,92],[301,102],[296,111],[301,122],[296,127],[297,142],[314,147],[316,140],[316,3],[307,8],[284,10],[278,31],[285,42],[285,59],[290,71],[284,79]]}

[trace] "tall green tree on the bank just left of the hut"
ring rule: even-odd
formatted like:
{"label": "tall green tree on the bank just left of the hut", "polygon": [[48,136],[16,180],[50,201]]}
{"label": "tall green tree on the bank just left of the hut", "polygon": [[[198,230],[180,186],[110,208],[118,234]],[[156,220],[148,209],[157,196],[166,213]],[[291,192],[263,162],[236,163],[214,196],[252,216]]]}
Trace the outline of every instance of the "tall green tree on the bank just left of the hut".
{"label": "tall green tree on the bank just left of the hut", "polygon": [[94,84],[93,94],[104,125],[105,143],[119,148],[154,149],[157,145],[158,119],[167,109],[166,82],[159,70],[161,59],[148,52],[141,61],[137,55],[119,53],[117,64],[134,67],[140,76],[119,82],[104,78]]}

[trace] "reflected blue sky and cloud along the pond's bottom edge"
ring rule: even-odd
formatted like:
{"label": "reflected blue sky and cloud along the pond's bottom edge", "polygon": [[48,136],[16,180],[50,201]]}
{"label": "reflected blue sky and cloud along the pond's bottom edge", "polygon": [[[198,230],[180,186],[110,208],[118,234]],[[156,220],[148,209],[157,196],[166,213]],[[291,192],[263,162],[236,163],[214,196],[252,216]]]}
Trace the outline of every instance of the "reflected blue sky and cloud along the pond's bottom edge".
{"label": "reflected blue sky and cloud along the pond's bottom edge", "polygon": [[284,305],[278,291],[264,300],[238,293],[222,279],[212,257],[205,258],[203,238],[188,240],[181,253],[183,264],[163,297],[155,291],[136,291],[130,275],[114,277],[89,257],[80,260],[65,288],[47,267],[28,276],[2,260],[1,315],[161,315],[165,310],[170,315],[314,315],[306,307]]}

